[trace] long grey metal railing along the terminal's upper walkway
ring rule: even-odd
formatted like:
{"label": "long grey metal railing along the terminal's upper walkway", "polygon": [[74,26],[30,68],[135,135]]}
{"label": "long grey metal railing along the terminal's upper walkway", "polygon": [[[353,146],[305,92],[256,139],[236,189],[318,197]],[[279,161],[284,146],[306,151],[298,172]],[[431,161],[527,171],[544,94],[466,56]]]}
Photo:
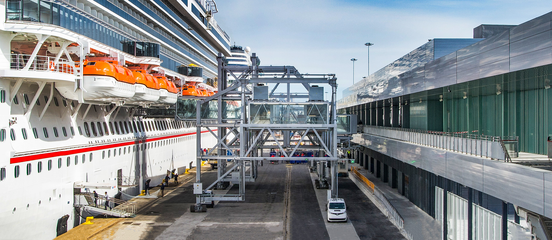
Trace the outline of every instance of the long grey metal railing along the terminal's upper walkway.
{"label": "long grey metal railing along the terminal's upper walkway", "polygon": [[486,136],[464,132],[440,132],[366,125],[364,125],[364,134],[507,162],[511,162],[511,158],[502,138],[517,139],[516,137]]}

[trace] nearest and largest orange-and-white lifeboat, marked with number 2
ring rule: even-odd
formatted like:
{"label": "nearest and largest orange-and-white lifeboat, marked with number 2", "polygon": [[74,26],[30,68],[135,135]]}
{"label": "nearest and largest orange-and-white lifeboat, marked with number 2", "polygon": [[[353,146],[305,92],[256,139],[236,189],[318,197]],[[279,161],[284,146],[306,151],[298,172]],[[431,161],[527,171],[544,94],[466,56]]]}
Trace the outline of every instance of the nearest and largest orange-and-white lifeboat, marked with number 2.
{"label": "nearest and largest orange-and-white lifeboat, marked with number 2", "polygon": [[[115,57],[87,57],[88,62],[83,67],[81,89],[75,92],[75,85],[56,84],[63,97],[73,100],[98,102],[120,102],[132,98],[136,92],[134,74],[118,64]],[[86,62],[86,61],[85,61]],[[79,95],[82,95],[79,97]]]}

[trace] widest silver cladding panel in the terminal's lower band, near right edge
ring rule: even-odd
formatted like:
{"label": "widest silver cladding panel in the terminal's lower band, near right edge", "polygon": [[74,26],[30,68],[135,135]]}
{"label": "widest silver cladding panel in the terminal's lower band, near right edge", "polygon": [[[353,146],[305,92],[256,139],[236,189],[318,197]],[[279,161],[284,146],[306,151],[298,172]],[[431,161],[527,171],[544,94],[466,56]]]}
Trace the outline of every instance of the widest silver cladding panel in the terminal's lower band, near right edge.
{"label": "widest silver cladding panel in the terminal's lower band, near right edge", "polygon": [[549,171],[487,159],[483,164],[484,193],[544,215],[544,172]]}

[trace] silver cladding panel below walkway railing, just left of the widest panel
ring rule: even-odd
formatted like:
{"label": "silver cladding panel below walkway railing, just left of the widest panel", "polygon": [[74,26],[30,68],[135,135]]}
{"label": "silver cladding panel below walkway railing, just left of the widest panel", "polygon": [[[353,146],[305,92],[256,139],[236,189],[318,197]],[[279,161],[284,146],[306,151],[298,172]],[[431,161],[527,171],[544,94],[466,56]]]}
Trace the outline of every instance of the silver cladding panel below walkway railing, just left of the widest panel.
{"label": "silver cladding panel below walkway railing, just left of the widest panel", "polygon": [[444,176],[445,178],[483,191],[483,159],[448,151],[446,158],[447,175]]}

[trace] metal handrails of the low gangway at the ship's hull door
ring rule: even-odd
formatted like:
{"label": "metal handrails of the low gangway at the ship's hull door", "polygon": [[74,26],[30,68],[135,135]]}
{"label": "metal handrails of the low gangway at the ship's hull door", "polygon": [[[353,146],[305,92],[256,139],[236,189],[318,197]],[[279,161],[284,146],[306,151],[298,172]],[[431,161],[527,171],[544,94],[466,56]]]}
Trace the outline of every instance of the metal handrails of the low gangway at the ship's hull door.
{"label": "metal handrails of the low gangway at the ship's hull door", "polygon": [[120,214],[136,214],[136,202],[123,201],[116,198],[105,200],[104,195],[98,194],[96,198],[93,193],[86,192],[75,193],[75,195],[84,196],[84,199],[86,199],[86,201],[75,202],[75,206],[93,206],[99,209],[110,208],[111,211],[119,212]]}

